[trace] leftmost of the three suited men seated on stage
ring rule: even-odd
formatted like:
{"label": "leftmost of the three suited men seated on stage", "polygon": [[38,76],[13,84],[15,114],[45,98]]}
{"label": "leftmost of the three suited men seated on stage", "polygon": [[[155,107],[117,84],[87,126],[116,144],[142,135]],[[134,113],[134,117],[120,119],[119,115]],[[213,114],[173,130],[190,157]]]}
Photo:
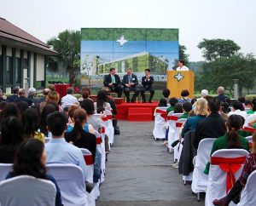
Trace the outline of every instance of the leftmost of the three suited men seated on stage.
{"label": "leftmost of the three suited men seated on stage", "polygon": [[118,94],[118,97],[122,96],[121,81],[119,76],[115,73],[114,68],[110,68],[110,73],[104,77],[103,82],[105,87],[108,87],[111,91]]}

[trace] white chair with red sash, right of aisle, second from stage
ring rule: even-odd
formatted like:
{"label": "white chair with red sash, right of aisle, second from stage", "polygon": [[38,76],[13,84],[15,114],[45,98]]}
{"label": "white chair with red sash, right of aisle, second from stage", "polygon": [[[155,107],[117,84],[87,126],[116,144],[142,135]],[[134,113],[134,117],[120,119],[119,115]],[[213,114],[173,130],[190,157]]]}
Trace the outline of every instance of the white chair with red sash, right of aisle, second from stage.
{"label": "white chair with red sash, right of aisle, second from stage", "polygon": [[168,148],[170,150],[170,152],[173,151],[172,148],[172,142],[175,141],[175,133],[176,133],[176,122],[178,117],[182,116],[183,113],[173,113],[173,112],[169,112],[168,116],[167,116],[167,122],[168,122],[168,126],[169,126],[169,132],[168,132]]}

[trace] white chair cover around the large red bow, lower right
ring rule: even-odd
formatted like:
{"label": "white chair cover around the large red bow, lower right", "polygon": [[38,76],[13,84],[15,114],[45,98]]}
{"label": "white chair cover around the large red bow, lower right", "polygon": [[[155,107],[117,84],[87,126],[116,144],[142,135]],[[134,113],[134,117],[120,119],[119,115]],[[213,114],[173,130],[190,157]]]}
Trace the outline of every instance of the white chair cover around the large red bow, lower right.
{"label": "white chair cover around the large red bow, lower right", "polygon": [[[212,154],[212,157],[225,157],[225,158],[236,158],[236,157],[246,157],[248,152],[243,149],[223,149],[218,150]],[[241,175],[241,168],[237,170],[235,177],[236,180]],[[209,176],[208,176],[208,186],[205,205],[212,206],[212,201],[217,198],[224,197],[226,195],[226,182],[227,174],[219,168],[219,165],[210,166]]]}

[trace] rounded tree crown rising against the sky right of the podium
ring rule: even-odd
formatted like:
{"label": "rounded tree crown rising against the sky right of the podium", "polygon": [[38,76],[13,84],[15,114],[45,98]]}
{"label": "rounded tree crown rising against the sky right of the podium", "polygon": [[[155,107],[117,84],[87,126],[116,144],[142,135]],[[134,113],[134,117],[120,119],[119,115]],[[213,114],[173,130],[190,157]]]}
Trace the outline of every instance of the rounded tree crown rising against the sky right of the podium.
{"label": "rounded tree crown rising against the sky right of the podium", "polygon": [[203,57],[207,61],[217,60],[219,58],[229,58],[230,56],[237,54],[241,49],[232,40],[227,39],[206,39],[204,38],[197,46],[202,49]]}

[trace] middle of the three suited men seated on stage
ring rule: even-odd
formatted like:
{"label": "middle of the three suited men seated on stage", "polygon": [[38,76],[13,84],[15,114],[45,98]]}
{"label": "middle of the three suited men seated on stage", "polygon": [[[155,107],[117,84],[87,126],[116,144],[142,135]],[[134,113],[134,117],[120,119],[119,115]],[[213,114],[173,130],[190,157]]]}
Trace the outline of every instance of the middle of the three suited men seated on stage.
{"label": "middle of the three suited men seated on stage", "polygon": [[135,102],[137,95],[140,93],[140,90],[136,87],[138,84],[137,76],[131,73],[131,68],[127,69],[127,74],[125,74],[125,76],[123,77],[122,83],[125,87],[124,93],[126,96],[126,102],[130,102],[130,91],[134,92],[131,98],[131,102]]}

